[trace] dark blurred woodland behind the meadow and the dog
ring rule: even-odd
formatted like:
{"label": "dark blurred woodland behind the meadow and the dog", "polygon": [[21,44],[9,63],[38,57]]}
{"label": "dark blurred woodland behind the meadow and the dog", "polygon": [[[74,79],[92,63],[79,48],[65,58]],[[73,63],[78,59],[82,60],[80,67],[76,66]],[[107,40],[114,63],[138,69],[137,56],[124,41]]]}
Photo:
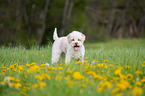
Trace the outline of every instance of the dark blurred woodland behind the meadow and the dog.
{"label": "dark blurred woodland behind the meadow and the dog", "polygon": [[0,0],[0,46],[45,45],[73,30],[86,41],[145,37],[145,0]]}

